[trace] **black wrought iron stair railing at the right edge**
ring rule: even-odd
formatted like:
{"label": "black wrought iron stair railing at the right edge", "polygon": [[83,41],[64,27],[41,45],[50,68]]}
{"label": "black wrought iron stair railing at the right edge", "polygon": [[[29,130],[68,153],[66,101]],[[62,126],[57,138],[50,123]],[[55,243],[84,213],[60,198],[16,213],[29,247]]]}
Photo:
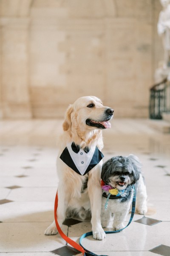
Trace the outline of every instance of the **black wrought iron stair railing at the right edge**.
{"label": "black wrought iron stair railing at the right edge", "polygon": [[167,79],[150,88],[150,119],[162,119],[162,113],[170,113],[170,82]]}

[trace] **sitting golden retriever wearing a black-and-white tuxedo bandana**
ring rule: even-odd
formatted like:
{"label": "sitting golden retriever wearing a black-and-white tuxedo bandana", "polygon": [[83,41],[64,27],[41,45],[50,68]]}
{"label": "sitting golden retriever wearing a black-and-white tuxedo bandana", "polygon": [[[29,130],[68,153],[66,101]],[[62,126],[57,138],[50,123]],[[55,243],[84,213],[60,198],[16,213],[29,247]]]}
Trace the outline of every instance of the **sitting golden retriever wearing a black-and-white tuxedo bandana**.
{"label": "sitting golden retriever wearing a black-and-white tuxedo bandana", "polygon": [[[105,238],[100,218],[102,129],[111,127],[109,120],[112,117],[113,109],[103,106],[97,97],[84,96],[77,99],[67,109],[57,158],[59,226],[65,220],[66,212],[76,210],[83,219],[90,211],[93,237],[98,240]],[[78,151],[74,152],[72,146],[78,148]],[[83,189],[85,183],[87,188]],[[55,234],[57,228],[54,221],[45,230],[45,235]]]}

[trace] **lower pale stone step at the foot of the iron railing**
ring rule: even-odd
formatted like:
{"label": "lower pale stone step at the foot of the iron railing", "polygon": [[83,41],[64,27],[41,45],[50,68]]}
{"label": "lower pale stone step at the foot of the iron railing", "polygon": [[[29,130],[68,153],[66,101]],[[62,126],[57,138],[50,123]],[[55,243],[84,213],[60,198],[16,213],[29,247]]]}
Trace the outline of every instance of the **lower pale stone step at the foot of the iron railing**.
{"label": "lower pale stone step at the foot of the iron railing", "polygon": [[170,122],[164,120],[149,120],[149,126],[161,131],[162,133],[170,133]]}

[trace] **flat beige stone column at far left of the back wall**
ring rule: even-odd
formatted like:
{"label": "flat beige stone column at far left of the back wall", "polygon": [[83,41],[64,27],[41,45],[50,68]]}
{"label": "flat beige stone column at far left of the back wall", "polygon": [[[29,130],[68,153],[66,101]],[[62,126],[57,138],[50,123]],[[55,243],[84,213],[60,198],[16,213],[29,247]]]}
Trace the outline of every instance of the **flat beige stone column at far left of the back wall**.
{"label": "flat beige stone column at far left of the back wall", "polygon": [[29,19],[4,17],[1,27],[1,93],[4,118],[31,118],[28,88]]}

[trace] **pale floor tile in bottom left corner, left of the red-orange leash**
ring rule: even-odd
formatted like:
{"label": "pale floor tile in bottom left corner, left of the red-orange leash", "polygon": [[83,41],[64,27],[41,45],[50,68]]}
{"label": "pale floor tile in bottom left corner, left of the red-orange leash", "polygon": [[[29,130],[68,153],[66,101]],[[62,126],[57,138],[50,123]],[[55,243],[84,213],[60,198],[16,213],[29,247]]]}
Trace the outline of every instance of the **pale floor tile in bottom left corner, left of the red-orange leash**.
{"label": "pale floor tile in bottom left corner, left of the red-orange leash", "polygon": [[[49,252],[65,245],[57,234],[45,236],[44,230],[50,222],[3,222],[0,224],[0,251],[5,252]],[[67,234],[68,227],[62,227]]]}

